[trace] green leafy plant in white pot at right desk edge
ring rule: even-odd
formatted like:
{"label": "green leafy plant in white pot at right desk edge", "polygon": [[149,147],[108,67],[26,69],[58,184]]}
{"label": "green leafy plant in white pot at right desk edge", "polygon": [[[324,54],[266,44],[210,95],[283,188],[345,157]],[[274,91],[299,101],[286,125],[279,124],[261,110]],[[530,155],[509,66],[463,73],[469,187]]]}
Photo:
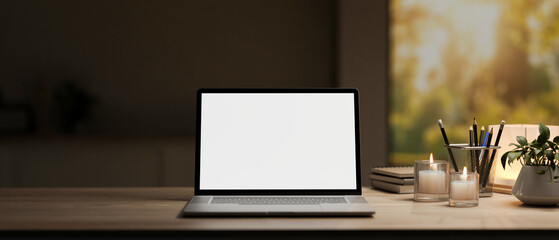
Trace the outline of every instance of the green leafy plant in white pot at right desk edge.
{"label": "green leafy plant in white pot at right desk edge", "polygon": [[503,154],[503,169],[507,162],[522,163],[522,170],[512,188],[512,195],[527,205],[559,204],[559,136],[550,141],[549,128],[539,125],[540,135],[532,142],[517,136],[515,148]]}

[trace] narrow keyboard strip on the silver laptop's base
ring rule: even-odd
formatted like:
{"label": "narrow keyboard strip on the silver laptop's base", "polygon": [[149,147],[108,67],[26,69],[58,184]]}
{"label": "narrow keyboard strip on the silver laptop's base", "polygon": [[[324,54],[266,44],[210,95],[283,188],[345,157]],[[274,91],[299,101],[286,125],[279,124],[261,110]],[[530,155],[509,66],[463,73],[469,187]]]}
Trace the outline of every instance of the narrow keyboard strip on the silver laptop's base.
{"label": "narrow keyboard strip on the silver laptop's base", "polygon": [[240,205],[317,205],[347,203],[344,197],[213,197],[211,203]]}

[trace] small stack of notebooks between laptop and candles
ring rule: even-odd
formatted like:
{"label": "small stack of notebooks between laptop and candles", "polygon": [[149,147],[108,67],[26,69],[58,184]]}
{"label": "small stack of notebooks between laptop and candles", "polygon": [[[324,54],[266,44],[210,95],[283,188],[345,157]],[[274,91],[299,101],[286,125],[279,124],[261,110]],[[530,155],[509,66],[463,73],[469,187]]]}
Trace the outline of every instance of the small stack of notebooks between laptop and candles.
{"label": "small stack of notebooks between laptop and candles", "polygon": [[374,188],[394,192],[413,193],[413,167],[377,167],[371,169]]}

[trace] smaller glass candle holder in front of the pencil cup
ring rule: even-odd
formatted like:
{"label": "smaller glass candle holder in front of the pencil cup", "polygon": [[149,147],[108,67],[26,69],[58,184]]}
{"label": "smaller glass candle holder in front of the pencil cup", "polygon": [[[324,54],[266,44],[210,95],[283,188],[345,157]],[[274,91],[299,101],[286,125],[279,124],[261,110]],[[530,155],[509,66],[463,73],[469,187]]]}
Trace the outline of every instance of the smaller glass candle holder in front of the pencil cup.
{"label": "smaller glass candle holder in front of the pencil cup", "polygon": [[476,207],[479,205],[479,174],[452,173],[448,198],[453,207]]}

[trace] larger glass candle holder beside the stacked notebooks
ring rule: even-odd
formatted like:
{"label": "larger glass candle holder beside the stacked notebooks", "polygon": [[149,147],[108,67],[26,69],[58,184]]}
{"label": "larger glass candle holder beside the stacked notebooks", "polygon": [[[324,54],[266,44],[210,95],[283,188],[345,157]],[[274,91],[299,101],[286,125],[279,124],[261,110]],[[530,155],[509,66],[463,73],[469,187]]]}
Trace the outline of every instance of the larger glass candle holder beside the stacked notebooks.
{"label": "larger glass candle holder beside the stacked notebooks", "polygon": [[448,200],[448,162],[417,160],[414,163],[414,196],[417,202]]}

